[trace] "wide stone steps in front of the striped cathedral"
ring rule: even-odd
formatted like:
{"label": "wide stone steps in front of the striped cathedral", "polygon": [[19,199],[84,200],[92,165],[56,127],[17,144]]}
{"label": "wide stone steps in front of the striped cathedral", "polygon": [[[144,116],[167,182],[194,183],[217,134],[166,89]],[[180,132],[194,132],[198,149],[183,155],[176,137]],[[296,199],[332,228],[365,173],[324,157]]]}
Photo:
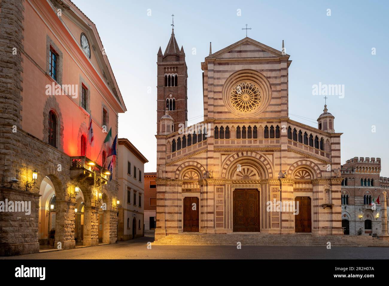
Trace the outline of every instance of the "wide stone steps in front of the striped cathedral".
{"label": "wide stone steps in front of the striped cathedral", "polygon": [[363,235],[277,235],[277,234],[171,234],[154,245],[242,245],[254,246],[382,246],[389,242]]}

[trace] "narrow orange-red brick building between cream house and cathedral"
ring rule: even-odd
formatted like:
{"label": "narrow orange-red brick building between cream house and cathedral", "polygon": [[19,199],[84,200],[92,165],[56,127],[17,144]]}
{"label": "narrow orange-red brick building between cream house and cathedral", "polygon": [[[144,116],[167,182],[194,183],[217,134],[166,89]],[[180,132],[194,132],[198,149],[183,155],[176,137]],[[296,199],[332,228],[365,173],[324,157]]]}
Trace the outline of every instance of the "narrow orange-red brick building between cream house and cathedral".
{"label": "narrow orange-red brick building between cream house and cathedral", "polygon": [[157,210],[157,173],[145,173],[145,230],[155,229]]}

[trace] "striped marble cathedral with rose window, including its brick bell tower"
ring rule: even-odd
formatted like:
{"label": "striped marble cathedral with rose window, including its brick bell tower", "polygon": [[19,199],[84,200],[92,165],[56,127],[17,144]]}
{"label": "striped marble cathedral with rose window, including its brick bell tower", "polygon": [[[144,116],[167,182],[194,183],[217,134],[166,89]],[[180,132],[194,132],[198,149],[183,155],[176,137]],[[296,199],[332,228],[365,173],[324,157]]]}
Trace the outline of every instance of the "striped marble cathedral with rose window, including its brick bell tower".
{"label": "striped marble cathedral with rose window, including its brick bell tower", "polygon": [[[343,234],[340,136],[288,117],[289,55],[246,37],[201,63],[204,120],[187,120],[174,31],[158,51],[158,240],[169,234]],[[199,98],[200,99],[200,98]]]}

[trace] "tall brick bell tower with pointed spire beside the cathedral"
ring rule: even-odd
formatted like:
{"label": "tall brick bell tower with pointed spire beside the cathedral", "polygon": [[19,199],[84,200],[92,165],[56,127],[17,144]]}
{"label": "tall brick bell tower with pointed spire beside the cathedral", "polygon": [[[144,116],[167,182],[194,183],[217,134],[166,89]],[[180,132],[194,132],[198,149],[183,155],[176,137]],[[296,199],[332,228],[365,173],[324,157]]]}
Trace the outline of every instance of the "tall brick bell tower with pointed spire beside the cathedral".
{"label": "tall brick bell tower with pointed spire beside the cathedral", "polygon": [[157,54],[157,132],[159,120],[165,114],[166,108],[174,120],[174,130],[178,131],[179,124],[186,124],[187,117],[187,66],[184,48],[177,44],[172,35],[162,54],[161,47]]}

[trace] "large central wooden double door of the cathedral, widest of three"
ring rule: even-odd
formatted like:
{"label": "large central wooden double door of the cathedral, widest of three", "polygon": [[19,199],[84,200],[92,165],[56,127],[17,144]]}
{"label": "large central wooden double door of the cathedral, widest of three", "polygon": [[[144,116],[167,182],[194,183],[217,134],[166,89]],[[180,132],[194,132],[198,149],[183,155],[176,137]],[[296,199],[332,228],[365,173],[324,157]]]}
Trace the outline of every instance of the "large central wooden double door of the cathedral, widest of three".
{"label": "large central wooden double door of the cathedral, widest of three", "polygon": [[233,192],[233,231],[259,232],[259,191],[235,189]]}

